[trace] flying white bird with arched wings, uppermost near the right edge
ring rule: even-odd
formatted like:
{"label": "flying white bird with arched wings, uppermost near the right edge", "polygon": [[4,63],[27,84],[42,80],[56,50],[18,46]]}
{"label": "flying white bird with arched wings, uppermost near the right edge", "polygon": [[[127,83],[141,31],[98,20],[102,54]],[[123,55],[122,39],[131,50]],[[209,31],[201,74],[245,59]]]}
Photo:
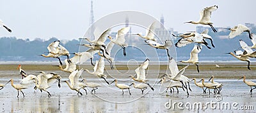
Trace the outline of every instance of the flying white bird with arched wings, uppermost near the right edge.
{"label": "flying white bird with arched wings, uppermost near the right edge", "polygon": [[237,26],[233,27],[232,29],[228,29],[228,30],[231,30],[230,34],[228,35],[228,37],[230,39],[238,36],[242,32],[248,32],[249,38],[252,39],[251,30],[248,27],[246,27],[245,25],[238,24]]}

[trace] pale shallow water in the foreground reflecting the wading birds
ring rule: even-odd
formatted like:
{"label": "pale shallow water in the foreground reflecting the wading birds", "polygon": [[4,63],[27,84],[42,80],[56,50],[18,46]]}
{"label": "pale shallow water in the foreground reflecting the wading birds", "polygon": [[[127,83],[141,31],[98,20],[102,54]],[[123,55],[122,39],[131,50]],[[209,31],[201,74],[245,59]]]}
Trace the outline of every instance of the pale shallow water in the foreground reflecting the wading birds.
{"label": "pale shallow water in the foreground reflecting the wading birds", "polygon": [[[1,79],[1,83],[8,81],[8,79]],[[98,79],[88,79],[90,82],[97,82]],[[17,90],[12,88],[10,84],[7,84],[3,90],[0,90],[0,110],[2,112],[227,112],[227,110],[211,109],[208,106],[207,109],[184,109],[180,110],[175,106],[175,109],[166,109],[165,103],[172,100],[173,102],[184,104],[202,102],[229,102],[238,103],[236,106],[239,108],[241,105],[253,105],[256,107],[256,92],[250,95],[250,88],[243,83],[243,81],[237,81],[236,79],[216,79],[216,81],[223,83],[223,89],[221,90],[221,97],[223,100],[217,102],[214,93],[209,95],[202,93],[202,89],[190,83],[192,91],[189,91],[189,96],[186,95],[186,91],[179,89],[179,94],[163,92],[164,88],[159,84],[155,85],[155,91],[148,88],[145,90],[145,95],[141,94],[138,89],[131,88],[131,95],[127,90],[122,90],[115,87],[114,84],[106,85],[102,84],[96,90],[96,94],[90,92],[90,88],[86,88],[88,95],[84,90],[81,90],[83,96],[78,96],[76,91],[72,91],[68,88],[67,84],[61,83],[61,88],[58,88],[56,83],[52,84],[49,88],[51,97],[48,98],[46,92],[40,93],[40,91],[33,90],[33,86],[24,91],[25,98],[20,93],[17,98]],[[19,83],[19,79],[15,79],[15,83]],[[122,84],[131,84],[132,81],[118,81]],[[154,83],[149,81],[149,83]],[[225,109],[225,108],[224,108]],[[254,108],[255,109],[255,108]],[[235,110],[232,107],[228,112],[254,112],[255,110]]]}

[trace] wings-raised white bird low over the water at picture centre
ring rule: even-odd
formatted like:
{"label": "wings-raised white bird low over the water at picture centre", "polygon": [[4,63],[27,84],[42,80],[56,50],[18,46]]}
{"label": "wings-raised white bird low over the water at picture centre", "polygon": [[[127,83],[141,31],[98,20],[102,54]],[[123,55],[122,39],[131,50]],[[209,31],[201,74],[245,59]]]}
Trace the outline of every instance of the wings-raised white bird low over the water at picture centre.
{"label": "wings-raised white bird low over the water at picture centre", "polygon": [[146,72],[145,72],[145,69],[148,68],[148,63],[149,63],[149,59],[147,58],[141,65],[140,67],[138,67],[137,69],[135,69],[135,72],[136,72],[136,75],[137,77],[135,78],[134,76],[131,75],[132,79],[134,81],[138,81],[140,83],[145,83],[147,84],[151,90],[154,91],[154,88],[149,84],[147,83],[147,80],[146,80]]}

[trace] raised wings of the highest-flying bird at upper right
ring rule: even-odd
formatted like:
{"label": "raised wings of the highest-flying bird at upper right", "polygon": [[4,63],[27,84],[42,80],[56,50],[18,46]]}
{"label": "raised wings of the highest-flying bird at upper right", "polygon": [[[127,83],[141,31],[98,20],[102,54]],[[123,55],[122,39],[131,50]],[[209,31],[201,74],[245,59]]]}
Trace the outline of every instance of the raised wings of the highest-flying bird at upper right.
{"label": "raised wings of the highest-flying bird at upper right", "polygon": [[206,7],[204,10],[200,11],[200,22],[209,22],[211,18],[212,11],[215,11],[218,9],[218,6],[210,6],[209,8]]}

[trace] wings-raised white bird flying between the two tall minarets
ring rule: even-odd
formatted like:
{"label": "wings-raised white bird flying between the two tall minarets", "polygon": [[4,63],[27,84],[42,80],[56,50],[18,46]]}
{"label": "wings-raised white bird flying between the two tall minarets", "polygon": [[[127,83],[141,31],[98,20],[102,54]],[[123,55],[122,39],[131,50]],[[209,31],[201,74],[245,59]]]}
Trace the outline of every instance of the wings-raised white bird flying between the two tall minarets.
{"label": "wings-raised white bird flying between the two tall minarets", "polygon": [[153,22],[153,23],[150,24],[150,26],[146,30],[146,36],[142,36],[141,34],[133,34],[133,35],[138,35],[141,38],[146,39],[146,40],[156,41],[156,39],[154,38],[154,36],[155,36],[155,34],[154,34],[155,29],[156,29],[156,22]]}

